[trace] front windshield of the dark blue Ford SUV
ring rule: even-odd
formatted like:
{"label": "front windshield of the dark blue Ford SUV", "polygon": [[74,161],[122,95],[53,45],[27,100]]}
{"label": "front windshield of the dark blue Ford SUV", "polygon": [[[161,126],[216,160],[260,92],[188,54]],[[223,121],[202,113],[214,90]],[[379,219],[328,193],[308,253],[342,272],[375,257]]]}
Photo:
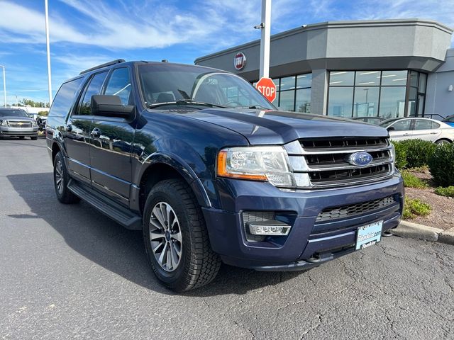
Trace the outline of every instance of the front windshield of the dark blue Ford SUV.
{"label": "front windshield of the dark blue Ford SUV", "polygon": [[138,70],[148,107],[160,103],[206,103],[226,108],[275,109],[248,81],[233,74],[175,64],[145,64]]}

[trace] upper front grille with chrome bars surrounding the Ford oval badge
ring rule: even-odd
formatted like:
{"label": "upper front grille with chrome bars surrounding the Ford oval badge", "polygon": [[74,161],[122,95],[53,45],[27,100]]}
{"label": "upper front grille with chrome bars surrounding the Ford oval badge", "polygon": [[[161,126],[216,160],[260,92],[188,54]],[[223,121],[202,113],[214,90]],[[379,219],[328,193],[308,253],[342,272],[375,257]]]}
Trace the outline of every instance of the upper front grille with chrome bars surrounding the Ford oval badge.
{"label": "upper front grille with chrome bars surrounding the Ford oval badge", "polygon": [[[328,137],[304,139],[285,146],[298,188],[354,186],[389,179],[392,147],[387,137]],[[367,152],[372,162],[351,164],[355,152]]]}

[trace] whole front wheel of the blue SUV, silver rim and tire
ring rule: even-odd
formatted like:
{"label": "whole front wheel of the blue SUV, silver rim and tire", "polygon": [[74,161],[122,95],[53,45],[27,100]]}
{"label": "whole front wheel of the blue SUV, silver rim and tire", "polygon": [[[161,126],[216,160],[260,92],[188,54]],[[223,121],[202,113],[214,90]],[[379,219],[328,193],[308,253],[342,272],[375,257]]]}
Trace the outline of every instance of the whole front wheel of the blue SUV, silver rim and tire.
{"label": "whole front wheel of the blue SUV, silver rim and tire", "polygon": [[221,260],[211,250],[200,207],[179,179],[157,183],[148,195],[143,239],[157,278],[177,292],[210,283]]}

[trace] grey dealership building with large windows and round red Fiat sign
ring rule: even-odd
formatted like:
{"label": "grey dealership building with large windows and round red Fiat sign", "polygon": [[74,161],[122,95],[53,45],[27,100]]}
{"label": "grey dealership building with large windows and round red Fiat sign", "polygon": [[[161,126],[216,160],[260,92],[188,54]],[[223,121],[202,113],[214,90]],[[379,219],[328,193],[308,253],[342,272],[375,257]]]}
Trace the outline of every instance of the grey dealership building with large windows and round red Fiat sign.
{"label": "grey dealership building with large windows and round red Fiat sign", "polygon": [[[273,103],[336,117],[454,114],[452,33],[436,21],[408,19],[316,23],[272,35]],[[195,64],[255,83],[259,60],[255,40]]]}

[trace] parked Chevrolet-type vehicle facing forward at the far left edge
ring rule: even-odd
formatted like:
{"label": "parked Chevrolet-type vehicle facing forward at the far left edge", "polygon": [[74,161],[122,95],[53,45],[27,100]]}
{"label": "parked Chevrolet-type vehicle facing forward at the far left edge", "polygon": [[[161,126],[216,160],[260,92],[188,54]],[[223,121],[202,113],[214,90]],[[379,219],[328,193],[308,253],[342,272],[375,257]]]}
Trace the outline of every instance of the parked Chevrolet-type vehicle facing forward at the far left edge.
{"label": "parked Chevrolet-type vehicle facing forward at the far left edge", "polygon": [[0,108],[0,138],[30,137],[38,139],[38,124],[21,108]]}

